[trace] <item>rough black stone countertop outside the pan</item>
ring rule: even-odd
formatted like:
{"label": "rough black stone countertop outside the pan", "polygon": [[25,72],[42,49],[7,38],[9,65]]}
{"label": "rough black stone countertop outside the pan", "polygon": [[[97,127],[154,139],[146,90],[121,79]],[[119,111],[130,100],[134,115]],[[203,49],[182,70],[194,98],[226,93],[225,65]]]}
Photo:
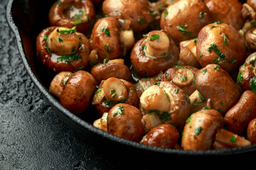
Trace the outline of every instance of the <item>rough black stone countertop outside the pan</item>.
{"label": "rough black stone countertop outside the pan", "polygon": [[[122,155],[108,157],[60,120],[21,62],[14,35],[6,23],[7,2],[0,0],[0,169],[150,169],[146,162],[135,165],[122,160]],[[223,159],[219,163],[230,168],[238,163],[251,164],[250,169],[255,169],[255,162],[249,161],[253,155],[255,152],[244,154],[238,162]],[[209,167],[216,164],[212,161]],[[181,159],[182,162],[188,160]],[[178,166],[175,169],[193,165],[198,169],[201,163],[200,159],[190,164],[174,159],[156,162],[169,168]]]}

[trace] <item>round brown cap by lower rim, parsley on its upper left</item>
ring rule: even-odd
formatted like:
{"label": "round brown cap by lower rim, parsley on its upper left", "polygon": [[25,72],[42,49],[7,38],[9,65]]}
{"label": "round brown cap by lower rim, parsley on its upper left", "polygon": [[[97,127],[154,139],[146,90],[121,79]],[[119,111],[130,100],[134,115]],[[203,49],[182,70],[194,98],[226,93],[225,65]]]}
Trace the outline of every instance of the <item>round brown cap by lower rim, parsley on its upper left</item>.
{"label": "round brown cap by lower rim, parsley on its upper left", "polygon": [[127,140],[139,142],[144,135],[142,113],[134,106],[119,103],[108,113],[107,132]]}

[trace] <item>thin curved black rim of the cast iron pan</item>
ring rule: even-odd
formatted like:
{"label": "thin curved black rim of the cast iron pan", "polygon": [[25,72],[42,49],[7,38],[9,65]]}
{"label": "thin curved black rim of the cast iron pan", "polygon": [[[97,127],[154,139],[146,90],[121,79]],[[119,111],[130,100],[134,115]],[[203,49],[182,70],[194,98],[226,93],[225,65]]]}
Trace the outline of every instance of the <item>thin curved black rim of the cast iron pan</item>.
{"label": "thin curved black rim of the cast iron pan", "polygon": [[256,150],[256,145],[250,145],[247,147],[235,147],[232,149],[206,150],[206,151],[203,151],[203,150],[190,151],[190,150],[182,150],[182,149],[166,149],[166,148],[160,148],[160,147],[151,147],[148,145],[142,145],[142,144],[139,144],[138,142],[132,142],[129,140],[122,139],[121,137],[111,135],[110,133],[99,130],[95,128],[93,125],[91,125],[90,123],[87,123],[86,121],[78,118],[78,116],[74,115],[73,113],[70,113],[70,111],[68,111],[63,106],[61,106],[60,103],[56,101],[55,98],[48,93],[48,90],[45,87],[43,87],[40,80],[36,77],[36,74],[32,71],[28,63],[28,60],[26,58],[26,54],[24,52],[21,35],[19,33],[18,27],[16,26],[16,23],[14,23],[14,16],[13,16],[13,12],[14,12],[13,10],[15,5],[14,1],[16,0],[9,0],[6,6],[6,19],[7,19],[9,28],[11,29],[12,33],[14,33],[14,36],[16,38],[16,45],[18,47],[18,52],[26,68],[26,71],[28,72],[29,77],[31,77],[33,83],[36,85],[36,87],[41,92],[41,94],[43,94],[43,96],[48,100],[51,106],[57,109],[66,118],[80,125],[85,130],[88,130],[95,135],[100,135],[103,138],[107,138],[108,140],[111,140],[111,142],[118,142],[122,145],[127,145],[129,147],[135,147],[137,149],[142,149],[149,152],[156,152],[160,154],[181,155],[181,156],[191,156],[191,155],[192,156],[220,156],[220,155],[225,156],[225,155],[231,155],[231,154],[233,155],[233,154],[242,154],[246,152],[253,152]]}

